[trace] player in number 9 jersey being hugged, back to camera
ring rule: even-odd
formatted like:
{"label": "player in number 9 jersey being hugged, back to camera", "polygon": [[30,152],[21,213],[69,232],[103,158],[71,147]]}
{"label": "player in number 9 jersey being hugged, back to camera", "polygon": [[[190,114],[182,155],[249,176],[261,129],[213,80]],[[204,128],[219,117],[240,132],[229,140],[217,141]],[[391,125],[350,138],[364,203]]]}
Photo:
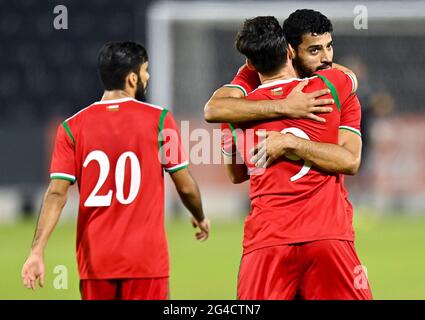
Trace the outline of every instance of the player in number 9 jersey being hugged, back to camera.
{"label": "player in number 9 jersey being hugged, back to camera", "polygon": [[[294,50],[288,49],[274,17],[247,20],[236,46],[261,80],[249,100],[285,97],[301,81],[292,65]],[[226,167],[232,181],[250,179],[251,184],[239,299],[372,298],[366,276],[358,274],[361,263],[354,248],[353,212],[342,175],[329,173],[329,164],[314,152],[318,145],[328,152],[342,148],[337,145],[341,108],[356,86],[352,75],[326,69],[304,88],[306,92],[330,89],[335,104],[324,115],[325,123],[281,118],[230,124],[244,164],[236,164],[233,155]],[[350,115],[353,123],[359,122],[358,109]],[[282,132],[291,141],[285,157],[266,169],[259,165],[265,160],[252,163],[250,152],[258,142],[256,135],[264,131]]]}

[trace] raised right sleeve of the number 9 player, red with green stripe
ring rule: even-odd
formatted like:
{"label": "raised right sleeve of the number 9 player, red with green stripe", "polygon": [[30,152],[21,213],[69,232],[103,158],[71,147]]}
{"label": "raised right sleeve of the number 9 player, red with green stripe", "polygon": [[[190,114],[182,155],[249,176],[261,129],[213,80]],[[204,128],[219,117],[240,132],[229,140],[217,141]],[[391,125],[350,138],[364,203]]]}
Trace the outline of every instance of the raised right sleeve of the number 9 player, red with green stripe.
{"label": "raised right sleeve of the number 9 player, red with green stripe", "polygon": [[[350,76],[337,69],[327,69],[316,72],[316,74],[325,82],[326,86],[335,89],[337,97],[334,96],[338,109],[345,103],[348,97],[353,93],[354,85]],[[333,88],[332,88],[333,87]]]}

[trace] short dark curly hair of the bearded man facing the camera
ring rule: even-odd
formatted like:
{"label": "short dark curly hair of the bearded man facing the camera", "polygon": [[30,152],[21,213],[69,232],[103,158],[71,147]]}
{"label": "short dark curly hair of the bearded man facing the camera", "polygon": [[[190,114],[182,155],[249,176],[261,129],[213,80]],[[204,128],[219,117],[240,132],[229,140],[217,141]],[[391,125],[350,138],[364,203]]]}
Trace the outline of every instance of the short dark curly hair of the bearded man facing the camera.
{"label": "short dark curly hair of the bearded man facing the camera", "polygon": [[283,33],[293,48],[300,45],[306,33],[324,34],[332,31],[332,22],[325,15],[311,9],[296,10],[283,21]]}

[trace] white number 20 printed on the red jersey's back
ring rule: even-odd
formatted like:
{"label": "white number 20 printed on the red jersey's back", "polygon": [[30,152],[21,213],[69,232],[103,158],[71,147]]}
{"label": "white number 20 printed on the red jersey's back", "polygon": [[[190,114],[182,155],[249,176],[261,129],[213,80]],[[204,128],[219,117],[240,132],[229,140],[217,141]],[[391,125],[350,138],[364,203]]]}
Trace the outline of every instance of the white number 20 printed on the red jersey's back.
{"label": "white number 20 printed on the red jersey's back", "polygon": [[[124,196],[124,172],[125,163],[127,159],[130,159],[131,165],[131,177],[130,177],[130,192],[127,198]],[[100,188],[102,188],[106,179],[109,175],[109,158],[105,152],[100,150],[94,150],[87,155],[84,160],[84,168],[86,168],[90,162],[97,161],[99,164],[100,172],[99,179],[97,180],[96,186],[84,202],[85,207],[109,207],[112,203],[113,191],[109,190],[105,195],[98,195]],[[121,204],[130,204],[136,198],[140,189],[140,163],[134,152],[127,151],[120,155],[115,167],[115,187],[117,190],[116,198]]]}

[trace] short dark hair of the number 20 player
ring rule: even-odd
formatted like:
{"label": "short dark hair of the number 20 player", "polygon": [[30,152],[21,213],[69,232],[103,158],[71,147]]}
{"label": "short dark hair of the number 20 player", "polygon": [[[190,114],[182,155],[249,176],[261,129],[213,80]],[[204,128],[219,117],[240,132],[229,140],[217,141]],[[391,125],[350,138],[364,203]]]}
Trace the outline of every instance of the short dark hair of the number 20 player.
{"label": "short dark hair of the number 20 player", "polygon": [[109,42],[99,51],[97,66],[105,90],[122,90],[130,72],[139,74],[148,61],[146,49],[133,41]]}

